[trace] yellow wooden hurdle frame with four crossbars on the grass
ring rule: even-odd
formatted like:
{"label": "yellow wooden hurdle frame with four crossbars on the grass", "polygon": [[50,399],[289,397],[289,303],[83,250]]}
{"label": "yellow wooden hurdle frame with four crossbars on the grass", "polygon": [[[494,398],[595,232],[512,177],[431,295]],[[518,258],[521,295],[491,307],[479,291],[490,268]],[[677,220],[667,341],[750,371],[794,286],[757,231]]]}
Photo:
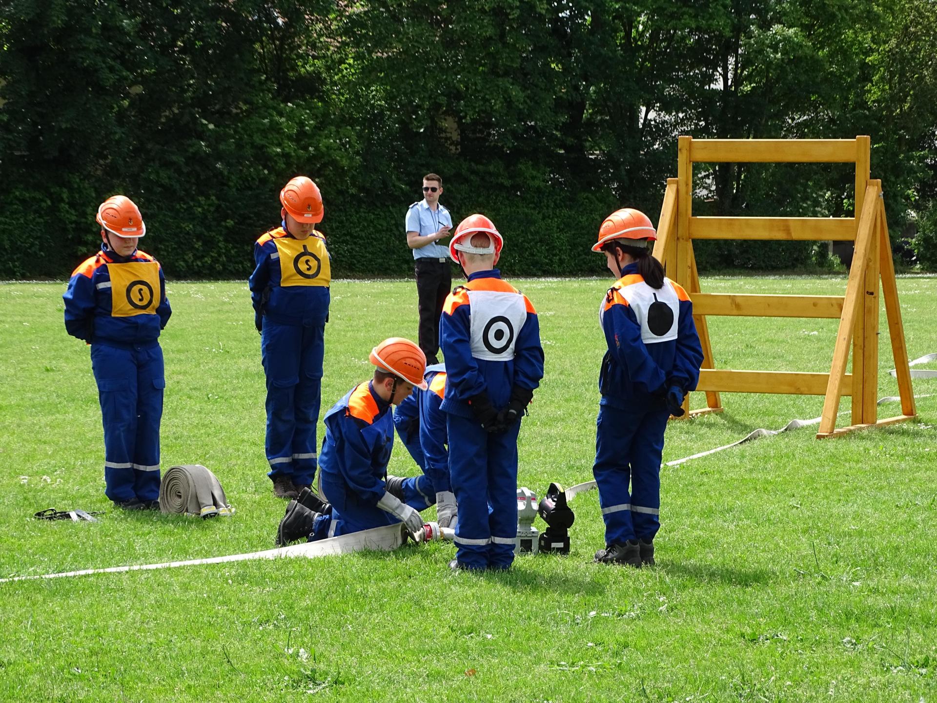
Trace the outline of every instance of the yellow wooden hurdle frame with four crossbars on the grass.
{"label": "yellow wooden hurdle frame with four crossbars on the grass", "polygon": [[[685,416],[721,412],[720,393],[779,393],[825,396],[817,438],[855,429],[892,425],[916,416],[904,341],[898,286],[892,262],[882,182],[870,179],[870,138],[842,140],[694,140],[680,137],[677,178],[667,179],[654,256],[667,277],[690,295],[693,320],[703,345],[697,391],[706,408]],[[693,217],[694,162],[855,163],[854,217]],[[845,295],[757,295],[705,293],[700,289],[694,239],[849,241],[855,254]],[[878,419],[879,281],[898,374],[901,414]],[[829,373],[716,369],[707,315],[836,318],[840,320]],[[846,373],[852,343],[852,373]],[[852,396],[852,425],[836,427],[840,396]]]}

